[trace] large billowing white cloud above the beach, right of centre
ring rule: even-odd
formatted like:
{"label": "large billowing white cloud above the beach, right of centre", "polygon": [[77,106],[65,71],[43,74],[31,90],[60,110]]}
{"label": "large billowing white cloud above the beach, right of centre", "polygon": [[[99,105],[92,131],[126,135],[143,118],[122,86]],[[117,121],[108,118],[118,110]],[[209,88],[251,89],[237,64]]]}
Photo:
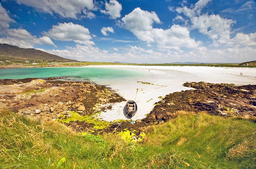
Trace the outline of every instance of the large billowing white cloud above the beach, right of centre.
{"label": "large billowing white cloud above the beach, right of centre", "polygon": [[155,12],[143,11],[135,8],[122,18],[122,25],[137,38],[147,43],[155,42],[159,48],[180,49],[194,48],[198,43],[189,36],[189,30],[180,25],[173,25],[169,29],[153,28],[154,23],[161,23]]}

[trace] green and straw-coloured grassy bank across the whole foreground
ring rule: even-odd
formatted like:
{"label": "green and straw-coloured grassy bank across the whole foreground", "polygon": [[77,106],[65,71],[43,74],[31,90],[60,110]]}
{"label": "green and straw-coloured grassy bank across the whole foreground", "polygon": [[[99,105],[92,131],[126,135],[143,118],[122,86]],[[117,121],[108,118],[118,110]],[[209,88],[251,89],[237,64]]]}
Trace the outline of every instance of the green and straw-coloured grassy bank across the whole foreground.
{"label": "green and straw-coloured grassy bank across the whole foreground", "polygon": [[143,142],[0,114],[0,168],[255,168],[256,123],[180,112]]}

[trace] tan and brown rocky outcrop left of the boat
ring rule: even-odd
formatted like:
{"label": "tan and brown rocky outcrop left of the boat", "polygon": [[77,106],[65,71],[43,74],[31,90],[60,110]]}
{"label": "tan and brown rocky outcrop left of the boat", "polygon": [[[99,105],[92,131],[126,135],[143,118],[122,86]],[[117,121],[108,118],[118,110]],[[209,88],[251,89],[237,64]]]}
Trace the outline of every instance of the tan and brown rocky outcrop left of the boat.
{"label": "tan and brown rocky outcrop left of the boat", "polygon": [[[110,103],[125,101],[105,86],[58,79],[61,78],[48,78],[48,81],[42,79],[0,80],[0,110],[11,109],[27,117],[48,121],[66,119],[70,111],[78,112],[81,116],[91,116],[110,108]],[[78,122],[75,119],[71,122],[72,125],[65,124],[76,132],[87,130],[95,130],[95,134],[102,132],[102,129],[94,129],[93,123]]]}

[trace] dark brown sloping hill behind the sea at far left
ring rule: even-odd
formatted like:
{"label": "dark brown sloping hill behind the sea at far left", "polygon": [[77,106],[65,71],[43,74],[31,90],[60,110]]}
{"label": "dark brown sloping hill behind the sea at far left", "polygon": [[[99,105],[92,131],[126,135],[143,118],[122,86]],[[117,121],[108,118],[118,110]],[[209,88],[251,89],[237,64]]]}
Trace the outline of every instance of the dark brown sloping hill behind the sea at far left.
{"label": "dark brown sloping hill behind the sea at far left", "polygon": [[78,62],[77,60],[62,58],[41,50],[19,48],[18,46],[0,43],[0,61],[11,62]]}

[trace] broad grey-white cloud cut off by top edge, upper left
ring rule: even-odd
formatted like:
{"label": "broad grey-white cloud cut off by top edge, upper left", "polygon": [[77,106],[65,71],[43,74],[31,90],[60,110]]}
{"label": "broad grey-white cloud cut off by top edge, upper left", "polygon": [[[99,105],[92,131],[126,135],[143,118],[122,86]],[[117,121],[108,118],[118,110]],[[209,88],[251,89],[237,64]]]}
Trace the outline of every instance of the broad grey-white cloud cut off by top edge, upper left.
{"label": "broad grey-white cloud cut off by top edge, upper left", "polygon": [[19,4],[25,4],[37,9],[38,12],[59,14],[63,18],[79,17],[94,18],[91,12],[94,9],[93,0],[16,0]]}

